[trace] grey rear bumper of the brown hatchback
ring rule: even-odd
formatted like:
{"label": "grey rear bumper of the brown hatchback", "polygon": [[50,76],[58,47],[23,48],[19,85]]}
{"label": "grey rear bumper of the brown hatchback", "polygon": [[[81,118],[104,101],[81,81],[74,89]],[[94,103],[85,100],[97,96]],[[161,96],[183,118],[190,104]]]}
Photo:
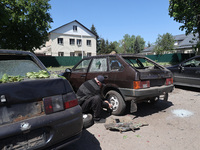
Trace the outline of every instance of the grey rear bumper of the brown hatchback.
{"label": "grey rear bumper of the brown hatchback", "polygon": [[128,89],[128,88],[119,88],[122,93],[125,101],[129,100],[143,100],[147,98],[156,97],[163,95],[164,93],[172,92],[174,85],[163,85],[160,87],[151,87],[146,89]]}

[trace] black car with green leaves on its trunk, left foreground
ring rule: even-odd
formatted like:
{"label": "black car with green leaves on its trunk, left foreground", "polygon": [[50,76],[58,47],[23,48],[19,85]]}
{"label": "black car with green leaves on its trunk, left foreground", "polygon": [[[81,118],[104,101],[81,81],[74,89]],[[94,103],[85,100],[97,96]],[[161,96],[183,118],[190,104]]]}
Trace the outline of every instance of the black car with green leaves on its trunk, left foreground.
{"label": "black car with green leaves on its trunk, left foreground", "polygon": [[49,76],[33,53],[0,50],[0,149],[53,149],[80,138],[76,95],[66,79]]}

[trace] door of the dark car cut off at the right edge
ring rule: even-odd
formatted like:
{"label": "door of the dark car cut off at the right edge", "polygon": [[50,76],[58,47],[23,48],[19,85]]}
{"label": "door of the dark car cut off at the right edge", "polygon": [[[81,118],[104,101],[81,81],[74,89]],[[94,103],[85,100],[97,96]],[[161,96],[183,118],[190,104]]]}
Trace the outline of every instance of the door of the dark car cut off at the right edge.
{"label": "door of the dark car cut off at the right edge", "polygon": [[175,80],[183,85],[200,85],[200,57],[190,59],[179,65]]}

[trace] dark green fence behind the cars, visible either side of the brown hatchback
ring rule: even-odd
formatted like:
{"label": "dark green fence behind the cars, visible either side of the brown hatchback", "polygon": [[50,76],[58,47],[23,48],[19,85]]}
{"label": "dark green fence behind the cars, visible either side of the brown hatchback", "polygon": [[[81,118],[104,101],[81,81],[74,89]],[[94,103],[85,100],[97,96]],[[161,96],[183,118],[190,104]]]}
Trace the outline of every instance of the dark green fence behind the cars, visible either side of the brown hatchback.
{"label": "dark green fence behind the cars, visible either side of the brown hatchback", "polygon": [[[195,54],[164,54],[164,55],[147,55],[146,57],[156,62],[168,62],[170,64],[176,64],[185,59],[188,59]],[[46,67],[59,67],[59,66],[74,66],[82,58],[78,56],[38,56]]]}

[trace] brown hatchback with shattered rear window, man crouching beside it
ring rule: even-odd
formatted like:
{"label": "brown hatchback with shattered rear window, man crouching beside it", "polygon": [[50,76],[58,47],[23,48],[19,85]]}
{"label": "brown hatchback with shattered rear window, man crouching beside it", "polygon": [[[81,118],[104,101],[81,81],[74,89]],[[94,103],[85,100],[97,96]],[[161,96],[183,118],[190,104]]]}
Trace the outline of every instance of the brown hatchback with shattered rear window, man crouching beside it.
{"label": "brown hatchback with shattered rear window, man crouching beside it", "polygon": [[97,75],[105,78],[102,95],[112,103],[114,115],[123,114],[126,102],[131,102],[130,110],[135,112],[139,102],[155,102],[161,95],[167,100],[174,87],[168,69],[147,57],[136,55],[87,57],[63,73],[75,91],[83,82]]}

